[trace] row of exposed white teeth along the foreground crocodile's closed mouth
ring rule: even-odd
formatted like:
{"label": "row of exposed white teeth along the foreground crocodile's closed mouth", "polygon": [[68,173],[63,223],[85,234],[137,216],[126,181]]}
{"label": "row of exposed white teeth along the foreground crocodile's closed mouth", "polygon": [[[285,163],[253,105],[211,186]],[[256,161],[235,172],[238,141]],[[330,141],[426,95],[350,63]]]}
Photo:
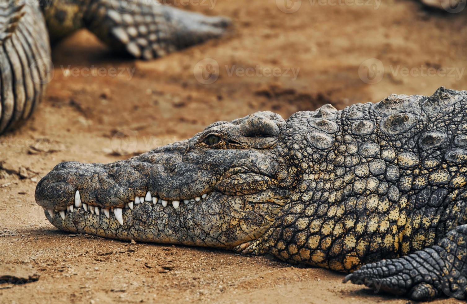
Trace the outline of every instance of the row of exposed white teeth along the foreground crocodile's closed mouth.
{"label": "row of exposed white teeth along the foreground crocodile's closed mouth", "polygon": [[74,203],[72,203],[71,205],[68,205],[66,207],[66,210],[54,210],[52,208],[47,209],[45,207],[42,207],[42,209],[47,210],[50,217],[52,218],[54,217],[54,213],[58,212],[60,214],[60,217],[62,217],[62,220],[65,220],[65,216],[68,212],[74,212],[78,208],[82,208],[85,212],[89,212],[97,216],[103,213],[107,218],[110,218],[110,213],[112,212],[115,215],[117,222],[120,225],[123,225],[123,216],[122,216],[123,209],[128,209],[131,212],[135,205],[139,205],[145,202],[152,202],[154,205],[161,204],[164,208],[167,207],[168,205],[172,205],[174,209],[177,209],[180,206],[180,202],[183,202],[185,205],[188,205],[189,203],[198,203],[201,200],[205,199],[208,194],[209,193],[205,193],[205,194],[202,194],[201,196],[196,196],[190,199],[184,199],[184,200],[178,200],[178,201],[167,201],[167,200],[163,200],[160,197],[152,196],[151,192],[148,191],[146,193],[146,196],[136,196],[134,198],[134,201],[125,203],[125,206],[122,208],[119,208],[119,207],[101,208],[98,206],[92,206],[86,203],[82,203],[81,196],[79,195],[79,190],[77,190],[75,193]]}

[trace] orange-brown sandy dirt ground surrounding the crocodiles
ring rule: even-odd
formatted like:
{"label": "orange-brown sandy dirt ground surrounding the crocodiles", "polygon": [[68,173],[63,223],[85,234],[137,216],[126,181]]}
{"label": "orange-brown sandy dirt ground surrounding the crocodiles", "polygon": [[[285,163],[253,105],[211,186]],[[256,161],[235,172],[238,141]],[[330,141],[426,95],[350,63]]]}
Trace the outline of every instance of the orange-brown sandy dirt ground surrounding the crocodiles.
{"label": "orange-brown sandy dirt ground surrounding the crocodiles", "polygon": [[[149,62],[115,57],[85,31],[54,47],[42,104],[20,130],[0,137],[0,263],[31,265],[40,275],[1,285],[2,303],[407,303],[342,284],[340,273],[266,257],[69,235],[35,204],[37,181],[61,161],[127,158],[119,153],[259,110],[286,118],[328,102],[342,109],[392,93],[467,89],[467,76],[455,71],[467,66],[467,10],[450,14],[412,0],[296,3],[297,12],[284,13],[279,0],[192,2],[185,8],[231,17],[230,33]],[[442,301],[459,302],[435,303]]]}

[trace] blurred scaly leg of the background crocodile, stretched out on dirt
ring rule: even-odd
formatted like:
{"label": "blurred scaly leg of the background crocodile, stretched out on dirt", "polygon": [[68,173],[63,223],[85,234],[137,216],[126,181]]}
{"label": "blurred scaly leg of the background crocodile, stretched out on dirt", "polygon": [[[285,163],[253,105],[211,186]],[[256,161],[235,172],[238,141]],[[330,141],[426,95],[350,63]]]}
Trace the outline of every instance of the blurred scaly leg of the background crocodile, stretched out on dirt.
{"label": "blurred scaly leg of the background crocodile, stretched out on dirt", "polygon": [[158,1],[94,1],[85,26],[114,51],[152,59],[225,33],[230,20],[164,6]]}

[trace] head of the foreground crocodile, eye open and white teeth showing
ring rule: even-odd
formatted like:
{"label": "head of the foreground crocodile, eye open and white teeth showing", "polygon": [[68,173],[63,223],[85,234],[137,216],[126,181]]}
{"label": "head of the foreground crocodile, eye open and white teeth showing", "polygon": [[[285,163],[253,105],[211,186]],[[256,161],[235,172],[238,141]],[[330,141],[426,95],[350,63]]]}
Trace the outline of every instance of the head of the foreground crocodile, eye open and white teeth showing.
{"label": "head of the foreground crocodile, eye open and white teeth showing", "polygon": [[258,112],[131,159],[60,163],[35,199],[65,231],[240,251],[271,226],[294,185],[285,125]]}

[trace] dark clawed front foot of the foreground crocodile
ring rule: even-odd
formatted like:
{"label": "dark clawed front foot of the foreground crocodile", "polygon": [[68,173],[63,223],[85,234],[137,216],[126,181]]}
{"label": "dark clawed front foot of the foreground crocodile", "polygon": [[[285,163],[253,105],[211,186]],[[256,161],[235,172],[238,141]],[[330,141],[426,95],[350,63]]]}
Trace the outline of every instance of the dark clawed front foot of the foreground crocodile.
{"label": "dark clawed front foot of the foreground crocodile", "polygon": [[467,296],[467,224],[446,234],[437,245],[392,260],[362,266],[344,282],[365,284],[413,300],[426,301],[445,294]]}

